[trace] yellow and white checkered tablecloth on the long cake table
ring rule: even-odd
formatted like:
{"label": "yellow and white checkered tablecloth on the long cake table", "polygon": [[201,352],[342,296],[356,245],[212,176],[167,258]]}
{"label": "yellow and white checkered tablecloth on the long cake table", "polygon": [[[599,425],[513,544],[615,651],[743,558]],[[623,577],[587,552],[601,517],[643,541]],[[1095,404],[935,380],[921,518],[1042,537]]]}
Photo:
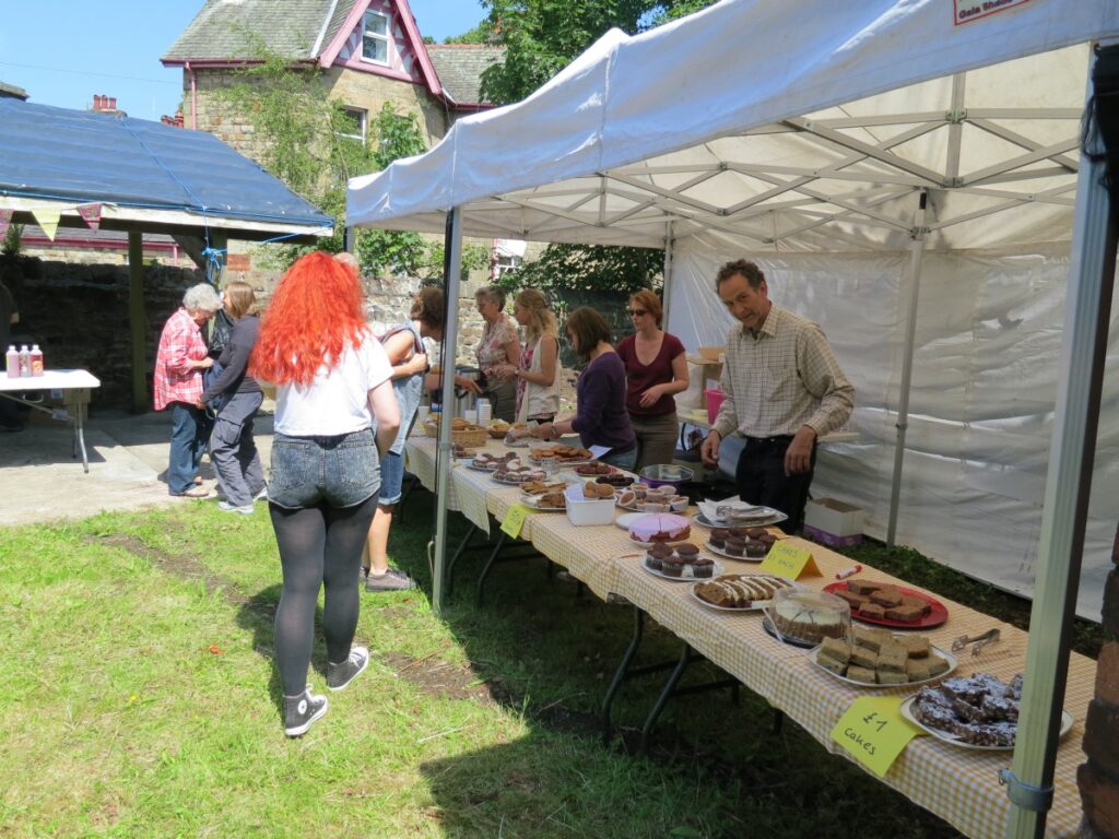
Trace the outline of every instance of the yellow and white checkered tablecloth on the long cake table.
{"label": "yellow and white checkered tablecloth on the long cake table", "polygon": [[[410,441],[410,453],[412,442]],[[417,446],[434,452],[434,447]],[[499,446],[498,446],[499,447]],[[413,470],[416,474],[421,472]],[[515,487],[493,482],[488,473],[457,470],[455,484],[462,507],[483,502],[489,513],[501,520],[509,506],[518,501]],[[473,497],[471,502],[467,498]],[[473,520],[473,518],[471,519]],[[476,522],[477,524],[477,522]],[[814,666],[805,650],[783,644],[762,629],[760,613],[728,614],[699,603],[692,594],[692,584],[667,581],[641,567],[643,550],[630,541],[618,527],[575,527],[564,513],[538,512],[528,516],[521,537],[540,553],[566,567],[600,597],[608,592],[624,595],[653,620],[674,632],[693,649],[737,678],[796,720],[830,751],[846,756],[831,741],[831,729],[839,717],[859,696],[908,696],[912,688],[881,690],[859,689],[847,685]],[[690,541],[703,545],[707,531],[692,528]],[[794,544],[812,552],[821,576],[800,582],[822,588],[835,581],[835,573],[852,562],[826,547],[802,539]],[[720,558],[727,573],[756,569],[756,564]],[[864,567],[864,579],[906,585],[888,574]],[[933,593],[933,596],[935,594]],[[979,657],[961,656],[957,676],[990,672],[1008,681],[1025,664],[1026,633],[967,606],[938,597],[948,609],[949,619],[941,626],[924,631],[930,641],[949,650],[952,640],[963,634],[978,634],[994,626],[1002,639],[985,649]],[[1081,821],[1076,766],[1085,761],[1081,741],[1088,704],[1096,682],[1096,662],[1073,653],[1069,668],[1064,707],[1074,717],[1072,730],[1061,741],[1054,775],[1053,808],[1046,819],[1049,837],[1075,837]],[[905,752],[882,779],[921,807],[937,813],[969,837],[1000,838],[1004,835],[1010,804],[1006,789],[999,785],[998,771],[1012,763],[1012,752],[980,752],[942,743],[930,736],[914,738]]]}

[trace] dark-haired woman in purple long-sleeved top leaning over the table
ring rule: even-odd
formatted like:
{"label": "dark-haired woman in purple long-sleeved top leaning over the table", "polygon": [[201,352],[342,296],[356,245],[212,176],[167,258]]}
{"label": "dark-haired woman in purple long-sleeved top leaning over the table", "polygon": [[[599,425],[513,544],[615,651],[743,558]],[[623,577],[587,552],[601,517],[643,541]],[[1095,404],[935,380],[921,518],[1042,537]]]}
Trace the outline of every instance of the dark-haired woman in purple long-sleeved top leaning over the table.
{"label": "dark-haired woman in purple long-sleeved top leaning over the table", "polygon": [[586,362],[575,385],[575,416],[537,425],[532,435],[551,440],[576,432],[585,447],[610,446],[600,461],[632,470],[637,437],[626,411],[626,365],[610,345],[610,327],[594,309],[582,307],[571,313],[563,329],[572,349]]}

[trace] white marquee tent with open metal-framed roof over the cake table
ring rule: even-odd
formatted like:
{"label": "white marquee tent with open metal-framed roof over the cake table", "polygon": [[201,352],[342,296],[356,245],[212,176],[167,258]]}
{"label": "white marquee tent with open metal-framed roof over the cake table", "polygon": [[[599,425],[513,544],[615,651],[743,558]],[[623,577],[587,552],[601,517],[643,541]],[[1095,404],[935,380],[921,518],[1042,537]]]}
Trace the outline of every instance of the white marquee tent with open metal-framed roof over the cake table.
{"label": "white marquee tent with open metal-framed roof over the cake table", "polygon": [[[1035,620],[1059,616],[1092,471],[1075,453],[1099,283],[1084,277],[1106,216],[1079,153],[1088,43],[1116,35],[1119,0],[723,0],[611,32],[524,102],[355,179],[348,220],[442,232],[454,210],[455,236],[667,247],[668,329],[690,349],[731,326],[717,265],[756,260],[858,390],[859,440],[821,455],[814,491],[867,508],[872,534],[893,510],[899,541],[1036,583]],[[1109,378],[1076,600],[1090,616],[1117,397]]]}

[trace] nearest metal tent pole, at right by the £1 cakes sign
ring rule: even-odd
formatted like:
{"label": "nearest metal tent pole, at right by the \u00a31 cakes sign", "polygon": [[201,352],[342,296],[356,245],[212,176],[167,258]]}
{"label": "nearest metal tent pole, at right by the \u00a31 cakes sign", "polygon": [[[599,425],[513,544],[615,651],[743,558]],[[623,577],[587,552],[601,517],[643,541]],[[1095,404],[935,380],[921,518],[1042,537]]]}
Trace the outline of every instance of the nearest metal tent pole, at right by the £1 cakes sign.
{"label": "nearest metal tent pole, at right by the \u00a31 cakes sign", "polygon": [[[1094,50],[1092,56],[1094,69]],[[1090,72],[1085,102],[1093,89]],[[1098,124],[1092,120],[1090,125],[1093,135],[1087,138],[1085,147],[1101,148]],[[1119,236],[1119,215],[1101,183],[1103,173],[1102,161],[1082,155],[1057,370],[1061,385],[1029,613],[1025,666],[1029,678],[1022,691],[1013,769],[999,773],[1014,804],[1006,826],[1008,839],[1041,837],[1052,803]]]}

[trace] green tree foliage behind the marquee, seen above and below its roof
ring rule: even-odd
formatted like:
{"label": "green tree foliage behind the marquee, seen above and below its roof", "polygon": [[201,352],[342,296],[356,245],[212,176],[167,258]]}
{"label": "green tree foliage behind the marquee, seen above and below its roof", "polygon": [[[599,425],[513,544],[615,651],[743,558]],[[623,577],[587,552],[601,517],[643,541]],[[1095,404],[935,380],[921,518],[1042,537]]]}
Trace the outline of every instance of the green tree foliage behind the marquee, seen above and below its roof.
{"label": "green tree foliage behind the marquee, seen above and below its roof", "polygon": [[[505,60],[482,73],[488,102],[525,98],[612,28],[633,35],[715,0],[481,0]],[[681,72],[684,72],[681,69]],[[639,247],[549,245],[540,260],[509,274],[514,286],[553,290],[647,289],[661,280],[664,253]]]}

